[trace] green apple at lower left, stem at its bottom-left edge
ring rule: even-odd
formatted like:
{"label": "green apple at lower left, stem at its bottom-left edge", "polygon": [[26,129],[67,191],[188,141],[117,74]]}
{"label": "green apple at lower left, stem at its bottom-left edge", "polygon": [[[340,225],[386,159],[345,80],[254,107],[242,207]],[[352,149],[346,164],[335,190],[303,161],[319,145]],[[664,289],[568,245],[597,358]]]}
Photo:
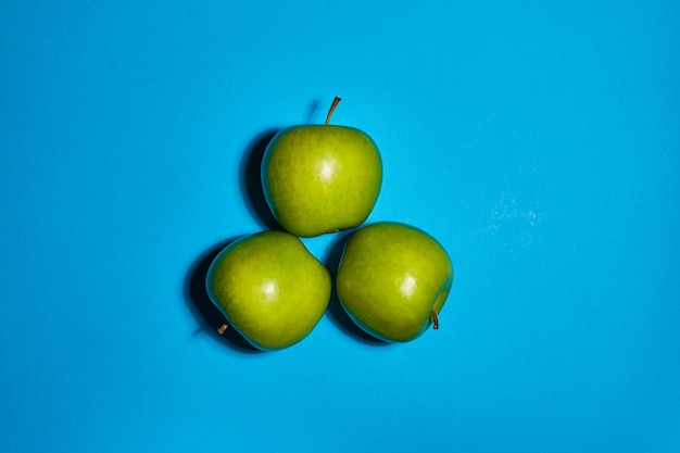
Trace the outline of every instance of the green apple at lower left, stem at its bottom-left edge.
{"label": "green apple at lower left, stem at its bottom-left edge", "polygon": [[331,290],[326,267],[284,231],[231,242],[212,262],[205,286],[228,325],[264,351],[306,337],[324,315]]}

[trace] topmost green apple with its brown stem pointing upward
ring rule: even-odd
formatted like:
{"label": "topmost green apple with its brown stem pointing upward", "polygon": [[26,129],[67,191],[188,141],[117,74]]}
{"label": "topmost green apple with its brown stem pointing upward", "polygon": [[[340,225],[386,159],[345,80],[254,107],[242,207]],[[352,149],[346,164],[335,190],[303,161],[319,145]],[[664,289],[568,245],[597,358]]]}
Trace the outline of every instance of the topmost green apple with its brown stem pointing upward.
{"label": "topmost green apple with its brown stem pointing upward", "polygon": [[362,130],[326,124],[281,129],[262,160],[264,197],[278,223],[300,237],[355,228],[370,214],[382,183],[376,143]]}

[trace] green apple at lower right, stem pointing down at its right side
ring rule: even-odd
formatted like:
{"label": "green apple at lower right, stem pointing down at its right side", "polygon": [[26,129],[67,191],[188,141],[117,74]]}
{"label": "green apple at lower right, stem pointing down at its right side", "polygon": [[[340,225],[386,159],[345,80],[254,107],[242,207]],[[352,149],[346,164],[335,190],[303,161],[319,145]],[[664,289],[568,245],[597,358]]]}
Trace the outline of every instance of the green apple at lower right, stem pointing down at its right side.
{"label": "green apple at lower right, stem pointing down at its right side", "polygon": [[336,279],[338,299],[368,334],[386,341],[413,340],[431,325],[453,284],[443,247],[416,227],[382,222],[348,240]]}

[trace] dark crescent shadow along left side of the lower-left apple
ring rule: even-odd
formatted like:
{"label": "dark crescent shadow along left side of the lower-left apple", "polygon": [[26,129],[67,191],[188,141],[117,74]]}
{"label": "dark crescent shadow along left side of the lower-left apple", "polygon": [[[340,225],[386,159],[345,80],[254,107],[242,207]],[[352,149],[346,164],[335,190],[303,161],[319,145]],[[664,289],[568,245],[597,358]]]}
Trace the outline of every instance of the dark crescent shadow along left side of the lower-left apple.
{"label": "dark crescent shadow along left side of the lower-left apple", "polygon": [[207,269],[213,260],[225,247],[239,238],[240,236],[232,237],[214,244],[203,251],[203,253],[191,263],[184,281],[184,294],[189,310],[200,326],[199,329],[194,331],[194,335],[207,332],[216,341],[235,351],[242,353],[260,353],[262,351],[253,347],[236,329],[227,328],[223,335],[218,334],[217,329],[225,324],[226,319],[211,301],[207,295],[207,290],[205,289],[205,277],[207,276]]}

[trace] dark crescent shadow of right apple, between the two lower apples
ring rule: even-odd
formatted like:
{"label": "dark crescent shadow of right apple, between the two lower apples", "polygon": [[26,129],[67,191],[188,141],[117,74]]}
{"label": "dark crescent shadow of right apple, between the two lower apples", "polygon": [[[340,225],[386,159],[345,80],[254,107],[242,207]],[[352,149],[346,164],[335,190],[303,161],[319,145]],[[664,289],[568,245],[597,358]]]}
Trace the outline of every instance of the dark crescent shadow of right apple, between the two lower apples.
{"label": "dark crescent shadow of right apple, between the two lower apples", "polygon": [[356,323],[354,323],[352,318],[347,314],[347,312],[342,307],[342,304],[340,303],[340,299],[338,299],[336,276],[338,274],[340,259],[342,257],[342,251],[344,250],[344,246],[350,239],[352,232],[353,230],[347,230],[336,234],[336,237],[333,238],[328,249],[326,250],[326,253],[324,254],[324,265],[330,273],[332,281],[330,302],[328,303],[328,310],[326,313],[328,314],[328,318],[336,327],[340,328],[342,331],[361,341],[362,343],[370,345],[388,345],[391,343],[376,338],[358,327]]}

